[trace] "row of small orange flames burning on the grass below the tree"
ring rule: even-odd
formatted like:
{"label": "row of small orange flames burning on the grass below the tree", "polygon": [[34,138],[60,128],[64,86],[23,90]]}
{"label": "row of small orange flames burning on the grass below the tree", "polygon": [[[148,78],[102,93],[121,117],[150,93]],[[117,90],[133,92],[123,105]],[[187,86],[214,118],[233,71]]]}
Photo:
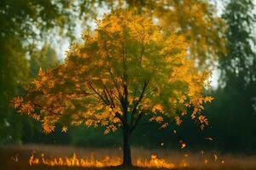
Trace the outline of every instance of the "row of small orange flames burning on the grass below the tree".
{"label": "row of small orange flames burning on the grass below the tree", "polygon": [[[203,154],[203,151],[202,153]],[[137,159],[134,161],[134,165],[137,167],[157,167],[157,168],[179,168],[179,167],[193,167],[193,163],[188,163],[185,157],[189,157],[189,154],[183,155],[184,159],[174,163],[166,161],[166,159],[159,158],[156,154],[152,154],[150,159]],[[224,164],[224,160],[221,159],[218,161],[217,154],[214,154],[214,160],[205,157],[204,164],[210,165],[212,162]],[[18,154],[12,156],[13,161],[18,161]],[[50,167],[54,166],[68,166],[68,167],[112,167],[119,166],[122,164],[122,159],[119,156],[112,157],[110,156],[102,157],[102,159],[96,159],[94,156],[79,158],[76,153],[73,153],[73,156],[70,157],[50,157],[47,158],[44,156],[44,153],[39,156],[35,151],[32,151],[32,155],[29,157],[29,165],[43,164]]]}

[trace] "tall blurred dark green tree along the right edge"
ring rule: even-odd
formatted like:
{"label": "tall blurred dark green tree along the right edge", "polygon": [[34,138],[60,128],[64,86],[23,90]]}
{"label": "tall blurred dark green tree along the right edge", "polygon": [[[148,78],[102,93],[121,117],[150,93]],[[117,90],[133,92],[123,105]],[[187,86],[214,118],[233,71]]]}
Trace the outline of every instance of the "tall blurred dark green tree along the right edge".
{"label": "tall blurred dark green tree along the right edge", "polygon": [[253,28],[256,17],[253,9],[251,0],[229,0],[224,8],[227,53],[219,59],[221,77],[218,91],[214,93],[218,101],[207,111],[216,128],[213,133],[218,136],[218,146],[225,150],[255,151],[256,54],[253,47],[256,39]]}

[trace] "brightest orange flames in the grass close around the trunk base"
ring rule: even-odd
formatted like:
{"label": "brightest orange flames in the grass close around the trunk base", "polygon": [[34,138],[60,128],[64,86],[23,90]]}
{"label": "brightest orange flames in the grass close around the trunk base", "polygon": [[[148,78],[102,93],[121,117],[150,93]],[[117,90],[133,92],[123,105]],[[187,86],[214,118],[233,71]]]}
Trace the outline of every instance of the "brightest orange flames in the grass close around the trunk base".
{"label": "brightest orange flames in the grass close around the trunk base", "polygon": [[[32,152],[32,156],[29,159],[29,165],[35,164],[44,164],[50,167],[54,166],[68,166],[68,167],[110,167],[118,166],[122,163],[122,159],[119,157],[114,157],[110,159],[109,156],[105,156],[102,160],[97,160],[94,156],[91,156],[89,159],[79,158],[76,153],[73,153],[71,157],[54,157],[47,159],[44,157],[44,153],[41,154],[41,158],[35,156],[35,152]],[[165,159],[160,159],[156,154],[151,156],[150,160],[137,159],[137,167],[164,167],[164,168],[173,168],[176,167],[173,163],[166,161]],[[185,161],[182,161],[179,164],[179,167],[187,167],[188,164]]]}

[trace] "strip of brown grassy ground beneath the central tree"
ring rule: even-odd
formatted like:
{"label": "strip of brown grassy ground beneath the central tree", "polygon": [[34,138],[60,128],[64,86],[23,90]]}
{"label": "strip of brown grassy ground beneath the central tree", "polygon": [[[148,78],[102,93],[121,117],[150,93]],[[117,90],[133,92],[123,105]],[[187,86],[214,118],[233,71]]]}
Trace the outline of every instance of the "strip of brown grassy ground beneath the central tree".
{"label": "strip of brown grassy ground beneath the central tree", "polygon": [[[167,169],[160,166],[155,167],[155,162],[158,164],[171,163],[174,165],[172,169],[187,169],[187,170],[256,170],[256,156],[243,155],[219,155],[217,152],[202,152],[190,153],[184,150],[145,150],[143,148],[132,148],[132,161],[137,165],[137,161],[143,162],[143,167],[68,167],[68,166],[49,166],[41,163],[29,164],[30,157],[34,155],[34,160],[41,159],[41,154],[44,153],[45,160],[54,160],[60,157],[73,157],[76,153],[77,158],[84,158],[88,161],[92,159],[91,165],[96,163],[96,160],[101,161],[109,157],[109,161],[118,163],[122,157],[120,148],[78,148],[72,146],[52,146],[52,145],[5,145],[0,146],[0,163],[1,170],[92,170],[92,169]],[[152,160],[152,155],[157,156]]]}

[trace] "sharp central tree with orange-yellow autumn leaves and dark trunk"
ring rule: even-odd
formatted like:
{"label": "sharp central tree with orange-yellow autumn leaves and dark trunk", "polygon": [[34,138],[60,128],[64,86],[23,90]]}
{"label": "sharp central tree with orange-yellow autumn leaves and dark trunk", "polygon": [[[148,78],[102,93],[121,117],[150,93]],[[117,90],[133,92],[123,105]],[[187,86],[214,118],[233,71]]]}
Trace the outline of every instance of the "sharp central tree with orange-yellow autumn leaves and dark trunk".
{"label": "sharp central tree with orange-yellow autumn leaves and dark trunk", "polygon": [[[122,128],[123,165],[131,166],[131,133],[143,116],[166,127],[170,118],[191,111],[201,128],[208,71],[199,71],[189,58],[189,44],[175,31],[163,33],[147,17],[122,9],[97,20],[94,33],[85,31],[83,44],[73,43],[65,62],[26,87],[26,96],[12,100],[22,114],[41,121],[45,133],[68,125]],[[169,120],[169,121],[168,121]]]}

